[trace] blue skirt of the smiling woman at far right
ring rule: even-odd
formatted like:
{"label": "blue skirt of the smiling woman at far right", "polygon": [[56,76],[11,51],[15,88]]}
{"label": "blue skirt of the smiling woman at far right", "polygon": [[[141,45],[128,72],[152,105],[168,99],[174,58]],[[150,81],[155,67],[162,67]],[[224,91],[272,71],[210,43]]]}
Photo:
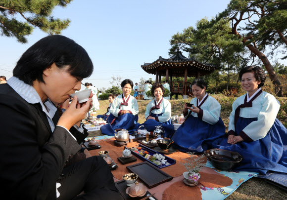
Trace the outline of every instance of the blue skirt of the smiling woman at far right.
{"label": "blue skirt of the smiling woman at far right", "polygon": [[[241,118],[237,121],[236,133],[240,133],[257,118]],[[287,129],[276,119],[267,135],[253,142],[227,143],[227,138],[213,142],[213,148],[238,152],[243,160],[235,169],[238,171],[254,171],[266,174],[269,170],[287,173]]]}

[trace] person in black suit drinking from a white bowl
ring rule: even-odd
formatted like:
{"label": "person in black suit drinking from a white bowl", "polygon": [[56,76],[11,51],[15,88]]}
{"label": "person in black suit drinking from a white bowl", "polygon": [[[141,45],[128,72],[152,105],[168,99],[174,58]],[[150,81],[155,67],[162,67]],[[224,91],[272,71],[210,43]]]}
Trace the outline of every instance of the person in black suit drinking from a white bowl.
{"label": "person in black suit drinking from a white bowl", "polygon": [[[92,73],[83,47],[63,36],[48,36],[21,56],[13,77],[0,85],[0,111],[5,114],[0,116],[2,198],[122,199],[101,157],[71,164],[88,135],[80,121],[93,94],[83,104],[75,97],[60,118],[52,103],[66,101]],[[85,194],[78,196],[81,191]]]}

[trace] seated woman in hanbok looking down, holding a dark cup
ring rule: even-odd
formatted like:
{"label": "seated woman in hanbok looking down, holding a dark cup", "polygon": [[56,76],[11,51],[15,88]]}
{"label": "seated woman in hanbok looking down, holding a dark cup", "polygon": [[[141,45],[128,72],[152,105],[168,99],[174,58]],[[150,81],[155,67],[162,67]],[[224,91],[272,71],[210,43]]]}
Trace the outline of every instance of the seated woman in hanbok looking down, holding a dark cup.
{"label": "seated woman in hanbok looking down, holding a dark cup", "polygon": [[184,105],[185,122],[171,138],[174,147],[183,152],[203,152],[211,149],[215,139],[225,134],[225,126],[220,118],[221,106],[206,92],[204,80],[196,79],[191,83],[192,106]]}

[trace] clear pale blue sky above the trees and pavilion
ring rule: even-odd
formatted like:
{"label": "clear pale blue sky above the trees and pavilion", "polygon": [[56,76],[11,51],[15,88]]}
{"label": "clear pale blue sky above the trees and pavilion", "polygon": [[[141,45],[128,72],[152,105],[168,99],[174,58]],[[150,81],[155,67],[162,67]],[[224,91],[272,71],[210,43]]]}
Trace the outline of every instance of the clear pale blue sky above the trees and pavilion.
{"label": "clear pale blue sky above the trees and pavilion", "polygon": [[[83,46],[94,63],[93,75],[83,80],[97,88],[110,87],[111,76],[139,82],[155,79],[142,70],[159,56],[168,58],[171,36],[201,18],[211,19],[223,11],[229,0],[74,0],[65,8],[57,7],[53,16],[69,18],[62,31]],[[39,29],[27,44],[14,38],[0,37],[0,75],[12,76],[12,70],[36,41],[47,36]]]}

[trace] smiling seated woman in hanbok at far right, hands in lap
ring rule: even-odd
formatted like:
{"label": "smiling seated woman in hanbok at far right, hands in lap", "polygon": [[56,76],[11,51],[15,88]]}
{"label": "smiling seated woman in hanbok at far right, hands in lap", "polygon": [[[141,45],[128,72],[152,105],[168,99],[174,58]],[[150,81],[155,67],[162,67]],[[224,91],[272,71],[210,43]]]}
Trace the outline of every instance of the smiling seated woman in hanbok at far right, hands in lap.
{"label": "smiling seated woman in hanbok at far right, hands in lap", "polygon": [[215,140],[213,147],[238,152],[243,157],[238,171],[287,173],[287,129],[276,118],[280,103],[261,89],[266,79],[264,70],[245,67],[239,79],[247,93],[232,105],[228,139]]}

